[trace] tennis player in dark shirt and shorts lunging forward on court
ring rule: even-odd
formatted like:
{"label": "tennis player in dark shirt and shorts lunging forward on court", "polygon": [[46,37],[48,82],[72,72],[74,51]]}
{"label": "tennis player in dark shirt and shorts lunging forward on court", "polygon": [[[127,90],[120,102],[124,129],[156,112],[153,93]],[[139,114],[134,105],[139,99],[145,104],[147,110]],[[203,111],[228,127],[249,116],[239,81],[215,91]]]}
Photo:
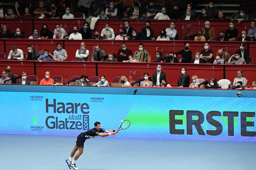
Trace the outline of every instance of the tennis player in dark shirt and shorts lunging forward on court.
{"label": "tennis player in dark shirt and shorts lunging forward on court", "polygon": [[[106,134],[102,134],[106,133]],[[96,136],[101,136],[101,137],[106,137],[109,135],[115,135],[116,133],[118,133],[118,130],[105,130],[105,129],[101,129],[100,128],[100,122],[95,122],[94,123],[94,128],[91,130],[88,130],[86,132],[82,132],[77,136],[77,141],[76,141],[76,145],[73,148],[73,150],[70,153],[70,157],[68,159],[66,159],[66,162],[68,164],[68,167],[71,169],[75,169],[78,170],[78,167],[76,167],[76,160],[80,157],[80,155],[83,154],[84,151],[84,142],[86,139],[90,139],[90,138],[94,138]],[[76,153],[76,151],[79,149],[78,153]],[[75,155],[75,158],[72,160],[73,156]]]}

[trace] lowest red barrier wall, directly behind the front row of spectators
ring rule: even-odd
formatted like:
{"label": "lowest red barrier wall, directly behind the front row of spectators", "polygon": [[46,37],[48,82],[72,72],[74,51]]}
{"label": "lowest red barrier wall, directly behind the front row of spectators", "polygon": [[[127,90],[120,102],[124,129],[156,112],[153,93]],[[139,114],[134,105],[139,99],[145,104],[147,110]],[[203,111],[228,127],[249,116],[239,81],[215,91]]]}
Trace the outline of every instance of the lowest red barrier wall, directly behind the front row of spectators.
{"label": "lowest red barrier wall, directly behind the front row of spectators", "polygon": [[[28,75],[35,74],[38,81],[44,78],[44,73],[50,71],[51,76],[60,75],[63,82],[68,82],[72,76],[82,74],[90,76],[100,76],[104,74],[109,83],[116,76],[124,75],[128,81],[133,82],[137,77],[143,77],[143,73],[148,72],[151,77],[156,72],[156,63],[119,63],[119,62],[79,62],[79,61],[8,61],[1,60],[0,68],[12,66],[12,72],[20,75],[26,71]],[[237,70],[243,70],[244,77],[248,80],[247,86],[251,87],[252,82],[256,81],[256,65],[212,65],[212,64],[180,64],[180,63],[162,63],[162,71],[166,73],[167,82],[172,86],[177,86],[180,76],[180,69],[185,67],[190,78],[193,75],[198,78],[216,78],[228,79],[233,83],[237,77]],[[192,81],[191,81],[192,82]]]}

